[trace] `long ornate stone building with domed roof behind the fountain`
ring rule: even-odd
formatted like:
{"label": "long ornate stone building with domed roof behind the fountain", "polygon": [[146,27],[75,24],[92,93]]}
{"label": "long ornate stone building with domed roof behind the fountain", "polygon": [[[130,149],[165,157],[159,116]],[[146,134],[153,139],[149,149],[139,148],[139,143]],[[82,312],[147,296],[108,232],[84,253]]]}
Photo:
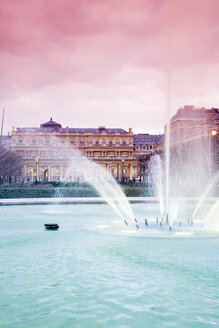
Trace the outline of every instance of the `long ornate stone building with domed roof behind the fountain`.
{"label": "long ornate stone building with domed roof behind the fountain", "polygon": [[[13,128],[11,149],[24,159],[25,181],[62,181],[76,149],[118,181],[133,180],[139,177],[139,156],[153,152],[159,139],[145,136],[139,139],[131,128],[63,128],[51,118],[39,128]],[[83,181],[83,174],[78,172],[70,179]]]}

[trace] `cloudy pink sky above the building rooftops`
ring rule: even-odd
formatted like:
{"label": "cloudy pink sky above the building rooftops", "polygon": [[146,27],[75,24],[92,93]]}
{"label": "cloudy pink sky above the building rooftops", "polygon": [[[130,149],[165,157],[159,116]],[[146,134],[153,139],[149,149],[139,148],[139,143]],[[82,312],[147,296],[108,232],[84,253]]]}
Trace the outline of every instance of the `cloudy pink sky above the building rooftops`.
{"label": "cloudy pink sky above the building rooftops", "polygon": [[163,133],[168,58],[172,112],[219,107],[218,17],[218,0],[1,0],[4,133],[50,117]]}

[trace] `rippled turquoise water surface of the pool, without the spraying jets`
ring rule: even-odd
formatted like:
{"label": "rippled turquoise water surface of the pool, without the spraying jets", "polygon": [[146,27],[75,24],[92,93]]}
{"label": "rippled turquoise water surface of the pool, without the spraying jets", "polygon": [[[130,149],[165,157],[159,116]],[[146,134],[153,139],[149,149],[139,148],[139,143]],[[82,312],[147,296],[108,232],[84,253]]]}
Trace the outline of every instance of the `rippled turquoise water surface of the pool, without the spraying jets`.
{"label": "rippled turquoise water surface of the pool, without the spraying jets", "polygon": [[2,206],[0,327],[218,327],[217,235],[140,226],[103,204]]}

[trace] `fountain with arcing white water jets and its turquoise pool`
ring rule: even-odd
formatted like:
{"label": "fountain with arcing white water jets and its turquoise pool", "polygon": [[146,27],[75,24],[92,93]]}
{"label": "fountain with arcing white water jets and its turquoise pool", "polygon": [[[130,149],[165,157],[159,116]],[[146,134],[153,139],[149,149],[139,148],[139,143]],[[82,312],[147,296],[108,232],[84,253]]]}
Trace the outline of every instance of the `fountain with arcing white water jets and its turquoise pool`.
{"label": "fountain with arcing white water jets and its turquoise pool", "polygon": [[[216,325],[219,201],[205,200],[210,187],[201,202],[182,197],[190,184],[177,170],[169,177],[175,197],[165,206],[164,165],[156,155],[149,178],[160,202],[131,206],[104,167],[74,147],[55,149],[69,163],[62,182],[83,176],[106,203],[1,207],[2,326]],[[177,179],[183,192],[172,184]],[[59,230],[42,229],[54,218]]]}

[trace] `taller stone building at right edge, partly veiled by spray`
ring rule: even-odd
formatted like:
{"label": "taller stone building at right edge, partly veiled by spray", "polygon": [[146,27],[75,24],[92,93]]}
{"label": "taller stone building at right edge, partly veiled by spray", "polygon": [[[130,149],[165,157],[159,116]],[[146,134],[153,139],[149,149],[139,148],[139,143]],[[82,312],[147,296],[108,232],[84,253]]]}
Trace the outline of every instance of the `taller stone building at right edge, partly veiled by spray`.
{"label": "taller stone building at right edge, partly veiled by spray", "polygon": [[170,121],[170,146],[173,172],[184,163],[197,185],[209,183],[219,172],[219,109],[180,108]]}

